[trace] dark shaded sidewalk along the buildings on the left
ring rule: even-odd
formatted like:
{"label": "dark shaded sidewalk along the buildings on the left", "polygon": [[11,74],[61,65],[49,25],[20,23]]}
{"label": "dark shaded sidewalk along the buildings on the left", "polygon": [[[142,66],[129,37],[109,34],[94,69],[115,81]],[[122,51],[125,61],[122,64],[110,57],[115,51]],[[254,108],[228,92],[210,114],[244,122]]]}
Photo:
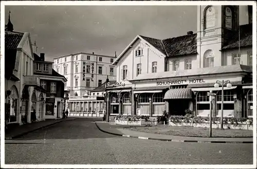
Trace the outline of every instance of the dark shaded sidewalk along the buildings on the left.
{"label": "dark shaded sidewalk along the buildings on the left", "polygon": [[18,137],[21,137],[30,132],[34,132],[36,130],[45,128],[47,126],[50,126],[50,125],[53,125],[56,123],[60,123],[63,121],[70,121],[70,120],[75,120],[75,118],[47,119],[45,121],[23,124],[23,125],[17,126],[17,128],[15,128],[15,129],[12,129],[11,131],[8,131],[7,133],[5,133],[5,139],[8,140],[8,139],[13,139],[13,138],[18,138]]}

